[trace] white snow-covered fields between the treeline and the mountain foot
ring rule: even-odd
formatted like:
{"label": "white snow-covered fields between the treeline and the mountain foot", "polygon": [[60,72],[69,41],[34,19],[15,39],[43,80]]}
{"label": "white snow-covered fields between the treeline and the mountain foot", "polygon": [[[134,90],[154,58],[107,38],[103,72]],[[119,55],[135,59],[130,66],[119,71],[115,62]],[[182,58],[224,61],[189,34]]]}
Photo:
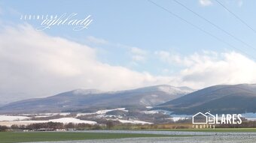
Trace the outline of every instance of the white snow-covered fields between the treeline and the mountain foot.
{"label": "white snow-covered fields between the treeline and the mountain foot", "polygon": [[[148,107],[150,109],[151,107]],[[136,119],[130,119],[126,120],[122,116],[117,115],[107,115],[106,113],[112,112],[112,111],[123,111],[123,112],[129,112],[128,110],[124,108],[119,109],[107,109],[107,110],[99,110],[97,112],[88,112],[88,113],[78,113],[74,116],[71,116],[71,113],[69,112],[63,112],[63,113],[40,113],[40,114],[20,114],[20,115],[0,115],[0,125],[5,125],[8,127],[11,127],[13,124],[17,125],[28,125],[28,124],[35,124],[35,123],[46,123],[46,122],[59,122],[63,124],[97,124],[95,121],[84,121],[78,119],[81,116],[84,115],[95,115],[96,118],[105,118],[107,120],[113,120],[113,121],[120,121],[123,124],[153,124],[151,122],[147,121],[139,121]],[[154,111],[142,111],[145,115],[154,115],[158,113],[164,113],[166,115],[170,115],[170,119],[173,121],[178,121],[186,118],[191,118],[191,115],[171,115],[172,112],[164,111],[164,110],[154,110]],[[51,119],[51,120],[37,120],[33,121],[32,118],[48,118],[52,116],[62,116],[61,118]],[[67,116],[67,117],[66,117]],[[246,113],[242,114],[242,117],[247,118],[251,121],[256,121],[256,114],[255,113]]]}

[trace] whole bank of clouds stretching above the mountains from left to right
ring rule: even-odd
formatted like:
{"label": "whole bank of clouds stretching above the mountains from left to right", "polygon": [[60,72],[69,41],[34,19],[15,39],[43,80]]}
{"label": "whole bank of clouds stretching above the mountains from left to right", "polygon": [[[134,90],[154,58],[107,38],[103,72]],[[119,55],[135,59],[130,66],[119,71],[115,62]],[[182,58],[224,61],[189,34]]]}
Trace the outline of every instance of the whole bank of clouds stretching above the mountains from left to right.
{"label": "whole bank of clouds stretching above the mountains from left to right", "polygon": [[[169,84],[200,89],[218,84],[256,83],[255,61],[238,52],[205,51],[181,56],[167,51],[151,54],[139,48],[130,49],[133,61],[154,56],[154,60],[158,59],[156,63],[163,62],[169,69],[181,68],[167,76],[154,76],[103,63],[98,60],[96,49],[62,37],[51,37],[30,25],[2,28],[0,39],[2,102],[47,97],[76,88],[112,91]],[[152,66],[159,68],[157,64]]]}

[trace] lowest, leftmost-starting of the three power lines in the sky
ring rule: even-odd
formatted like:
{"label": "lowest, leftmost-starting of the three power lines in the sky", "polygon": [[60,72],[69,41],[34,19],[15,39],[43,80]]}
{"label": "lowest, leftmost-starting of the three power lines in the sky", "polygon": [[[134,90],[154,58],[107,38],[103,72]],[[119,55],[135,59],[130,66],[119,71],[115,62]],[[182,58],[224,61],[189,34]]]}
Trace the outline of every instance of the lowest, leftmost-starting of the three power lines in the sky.
{"label": "lowest, leftmost-starting of the three power lines in the sky", "polygon": [[[154,1],[151,1],[151,0],[148,0],[148,1],[151,2],[152,4],[156,5],[157,7],[160,7],[162,10],[165,10],[167,13],[171,14],[172,16],[175,16],[176,18],[181,19],[182,21],[186,22],[188,25],[191,25],[191,26],[193,26],[194,28],[197,28],[198,30],[202,31],[203,33],[208,34],[208,35],[211,36],[211,37],[214,37],[216,40],[218,40],[218,41],[220,41],[220,42],[222,42],[222,43],[225,43],[227,46],[230,46],[230,47],[232,47],[233,49],[236,49],[236,50],[238,50],[239,52],[242,52],[243,54],[248,55],[248,56],[250,56],[251,58],[254,58],[254,56],[248,54],[247,52],[243,52],[241,49],[238,49],[238,48],[236,48],[236,46],[233,46],[233,45],[231,45],[230,43],[227,43],[226,41],[222,40],[221,38],[216,37],[214,34],[211,34],[209,31],[205,31],[203,28],[200,28],[199,26],[194,25],[192,22],[189,22],[189,21],[187,21],[186,19],[182,18],[181,16],[178,16],[177,14],[172,13],[172,11],[166,9],[165,7],[161,6],[160,4],[157,4],[157,3],[155,3]],[[254,58],[254,59],[256,59],[256,58]]]}

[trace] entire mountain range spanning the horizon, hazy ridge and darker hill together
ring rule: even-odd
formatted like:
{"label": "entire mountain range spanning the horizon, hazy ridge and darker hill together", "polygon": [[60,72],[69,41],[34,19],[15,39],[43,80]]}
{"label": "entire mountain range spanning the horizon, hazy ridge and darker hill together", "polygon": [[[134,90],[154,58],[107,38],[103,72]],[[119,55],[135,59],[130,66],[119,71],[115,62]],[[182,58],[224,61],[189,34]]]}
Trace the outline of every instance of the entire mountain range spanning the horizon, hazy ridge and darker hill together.
{"label": "entire mountain range spanning the horizon, hazy ridge and darker hill together", "polygon": [[256,84],[215,85],[195,91],[156,85],[126,91],[76,89],[51,97],[21,100],[0,107],[0,113],[95,112],[99,109],[140,109],[153,106],[176,115],[197,112],[233,114],[256,112]]}

